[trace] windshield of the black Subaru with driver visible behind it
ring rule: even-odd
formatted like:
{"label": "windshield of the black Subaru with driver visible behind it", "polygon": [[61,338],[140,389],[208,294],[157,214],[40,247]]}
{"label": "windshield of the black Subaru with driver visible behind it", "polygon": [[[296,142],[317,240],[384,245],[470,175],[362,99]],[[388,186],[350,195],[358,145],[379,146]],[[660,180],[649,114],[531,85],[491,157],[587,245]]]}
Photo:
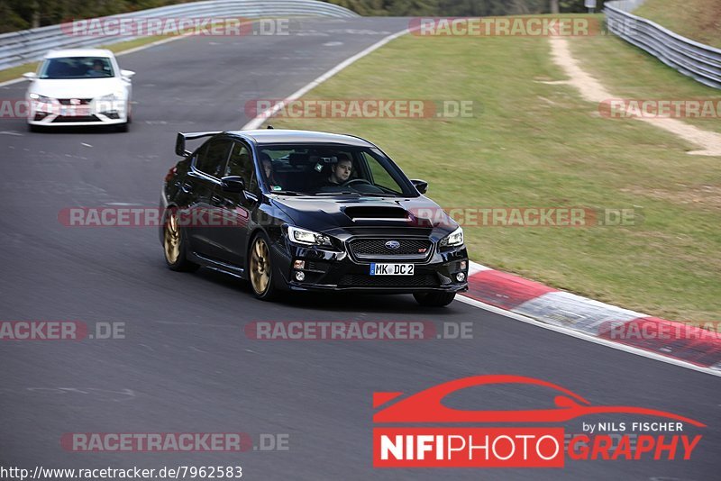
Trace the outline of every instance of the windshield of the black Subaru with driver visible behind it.
{"label": "windshield of the black Subaru with driver visible behind it", "polygon": [[417,196],[403,172],[380,150],[351,146],[260,146],[270,192],[295,195]]}

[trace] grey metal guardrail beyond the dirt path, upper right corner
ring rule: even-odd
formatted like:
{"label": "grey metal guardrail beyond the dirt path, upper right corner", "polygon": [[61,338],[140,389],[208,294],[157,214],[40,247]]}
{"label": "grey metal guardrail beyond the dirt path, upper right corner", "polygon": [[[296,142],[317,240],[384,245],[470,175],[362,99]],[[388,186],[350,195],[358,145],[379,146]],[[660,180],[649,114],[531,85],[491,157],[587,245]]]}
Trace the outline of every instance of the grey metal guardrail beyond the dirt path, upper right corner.
{"label": "grey metal guardrail beyond the dirt path, upper right corner", "polygon": [[692,41],[642,17],[630,14],[643,0],[607,2],[607,28],[671,68],[707,86],[721,88],[721,50]]}

